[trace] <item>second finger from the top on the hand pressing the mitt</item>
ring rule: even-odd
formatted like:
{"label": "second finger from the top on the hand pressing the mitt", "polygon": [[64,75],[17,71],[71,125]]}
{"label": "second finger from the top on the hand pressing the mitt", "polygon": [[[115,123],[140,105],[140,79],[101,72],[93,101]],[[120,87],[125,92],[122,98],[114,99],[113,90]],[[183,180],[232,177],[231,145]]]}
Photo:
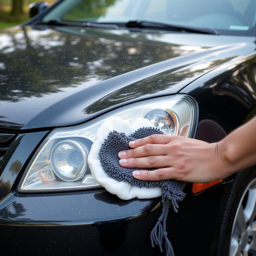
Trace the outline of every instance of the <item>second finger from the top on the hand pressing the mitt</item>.
{"label": "second finger from the top on the hand pressing the mitt", "polygon": [[165,145],[162,144],[146,144],[141,147],[137,147],[130,150],[120,151],[118,157],[122,159],[127,158],[137,158],[144,156],[161,156],[166,155],[168,150],[165,148]]}

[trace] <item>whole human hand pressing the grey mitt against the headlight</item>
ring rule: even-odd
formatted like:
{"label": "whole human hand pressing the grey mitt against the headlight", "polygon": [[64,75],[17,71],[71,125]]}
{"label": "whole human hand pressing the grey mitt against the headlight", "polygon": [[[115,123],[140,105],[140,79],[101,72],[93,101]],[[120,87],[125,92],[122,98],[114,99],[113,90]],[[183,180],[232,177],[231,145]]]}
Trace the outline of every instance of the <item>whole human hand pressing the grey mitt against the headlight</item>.
{"label": "whole human hand pressing the grey mitt against the headlight", "polygon": [[[133,177],[140,180],[177,179],[207,183],[230,175],[218,143],[154,134],[129,142],[131,150],[119,152],[119,164],[141,168]],[[147,171],[143,168],[157,168]]]}

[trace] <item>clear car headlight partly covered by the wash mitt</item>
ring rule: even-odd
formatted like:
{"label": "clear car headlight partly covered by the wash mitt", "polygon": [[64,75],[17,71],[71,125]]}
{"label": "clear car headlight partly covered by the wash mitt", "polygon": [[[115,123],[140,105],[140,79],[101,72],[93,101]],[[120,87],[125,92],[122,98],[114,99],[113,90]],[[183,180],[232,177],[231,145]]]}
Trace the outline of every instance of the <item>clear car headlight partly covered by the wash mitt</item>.
{"label": "clear car headlight partly covered by the wash mitt", "polygon": [[18,186],[21,192],[61,191],[100,187],[87,157],[101,124],[112,116],[132,123],[146,118],[167,135],[193,137],[198,107],[188,95],[144,100],[104,114],[85,124],[53,130],[31,159]]}

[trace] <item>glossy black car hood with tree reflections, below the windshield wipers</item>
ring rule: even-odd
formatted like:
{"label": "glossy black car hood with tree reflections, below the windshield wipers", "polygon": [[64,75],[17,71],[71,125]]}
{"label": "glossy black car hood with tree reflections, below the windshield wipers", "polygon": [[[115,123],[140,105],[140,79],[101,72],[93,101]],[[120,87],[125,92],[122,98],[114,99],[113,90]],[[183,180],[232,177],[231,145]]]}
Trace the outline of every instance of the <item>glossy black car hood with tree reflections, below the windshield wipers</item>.
{"label": "glossy black car hood with tree reflections, below the windshield wipers", "polygon": [[123,104],[175,94],[255,49],[255,37],[14,27],[0,33],[0,127],[78,124]]}

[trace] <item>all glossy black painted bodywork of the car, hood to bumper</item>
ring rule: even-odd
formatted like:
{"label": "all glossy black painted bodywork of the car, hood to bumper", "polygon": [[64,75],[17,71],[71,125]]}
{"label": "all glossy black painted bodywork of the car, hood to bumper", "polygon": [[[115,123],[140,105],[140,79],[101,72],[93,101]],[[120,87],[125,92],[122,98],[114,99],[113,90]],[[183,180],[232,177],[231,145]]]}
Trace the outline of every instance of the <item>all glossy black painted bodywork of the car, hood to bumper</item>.
{"label": "all glossy black painted bodywork of the car, hood to bumper", "polygon": [[[256,113],[255,38],[57,27],[14,28],[3,35],[16,42],[13,51],[7,46],[0,53],[12,70],[1,71],[0,126],[23,134],[0,166],[1,253],[163,255],[149,237],[159,198],[123,201],[104,189],[25,195],[17,193],[19,178],[49,127],[84,122],[145,98],[192,95],[199,106],[196,138],[220,140]],[[17,66],[17,60],[28,66]],[[230,186],[194,196],[187,184],[178,214],[170,210],[168,217],[177,256],[215,254]]]}

